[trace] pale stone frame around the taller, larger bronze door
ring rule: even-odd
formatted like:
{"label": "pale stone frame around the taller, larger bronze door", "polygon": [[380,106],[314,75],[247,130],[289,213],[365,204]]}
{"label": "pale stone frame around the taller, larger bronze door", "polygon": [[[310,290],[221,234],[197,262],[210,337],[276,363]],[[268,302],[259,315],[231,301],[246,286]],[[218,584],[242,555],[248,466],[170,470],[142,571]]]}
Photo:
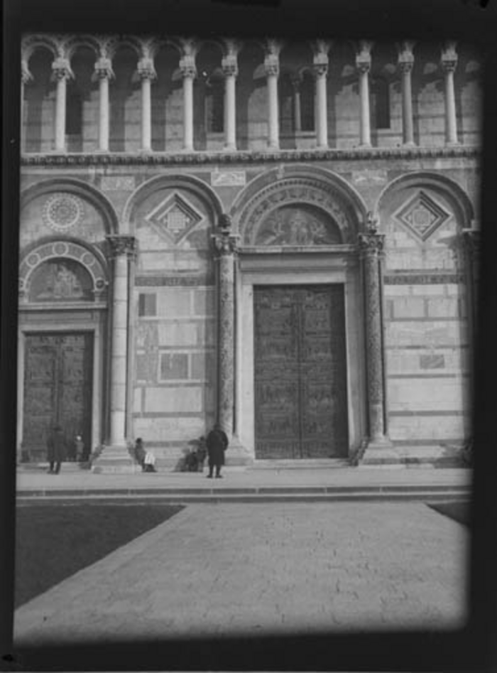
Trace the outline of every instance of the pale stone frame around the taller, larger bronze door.
{"label": "pale stone frame around the taller, larger bronze door", "polygon": [[364,304],[355,246],[327,251],[239,250],[236,274],[235,434],[251,458],[255,455],[255,390],[253,338],[254,285],[343,284],[345,308],[346,387],[349,456],[366,432],[366,362]]}

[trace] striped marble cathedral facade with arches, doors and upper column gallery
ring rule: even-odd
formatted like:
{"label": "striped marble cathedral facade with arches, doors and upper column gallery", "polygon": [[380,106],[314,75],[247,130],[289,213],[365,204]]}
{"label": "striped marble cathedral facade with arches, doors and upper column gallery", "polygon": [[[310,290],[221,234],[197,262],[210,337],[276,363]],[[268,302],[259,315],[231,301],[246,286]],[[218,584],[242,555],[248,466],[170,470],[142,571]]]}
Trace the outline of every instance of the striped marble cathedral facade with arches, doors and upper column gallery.
{"label": "striped marble cathedral facade with arches, doors and upper column gallery", "polygon": [[471,45],[23,37],[18,455],[454,464],[471,437]]}

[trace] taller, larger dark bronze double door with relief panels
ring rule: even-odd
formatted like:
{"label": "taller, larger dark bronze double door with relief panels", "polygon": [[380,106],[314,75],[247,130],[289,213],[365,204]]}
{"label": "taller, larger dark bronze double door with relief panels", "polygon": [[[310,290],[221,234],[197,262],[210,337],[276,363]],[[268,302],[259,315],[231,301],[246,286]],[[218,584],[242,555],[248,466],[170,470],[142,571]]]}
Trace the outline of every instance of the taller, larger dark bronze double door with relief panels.
{"label": "taller, larger dark bronze double door with relief panels", "polygon": [[256,458],[347,455],[344,288],[254,287]]}

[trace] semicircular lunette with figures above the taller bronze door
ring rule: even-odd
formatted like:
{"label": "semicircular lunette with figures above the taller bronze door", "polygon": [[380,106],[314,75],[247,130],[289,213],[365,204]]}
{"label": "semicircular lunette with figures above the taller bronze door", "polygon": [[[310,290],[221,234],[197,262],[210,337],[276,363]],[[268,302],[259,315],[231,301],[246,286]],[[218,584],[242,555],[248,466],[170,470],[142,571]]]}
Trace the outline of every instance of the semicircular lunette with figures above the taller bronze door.
{"label": "semicircular lunette with figures above the taller bronze door", "polygon": [[342,242],[339,228],[314,208],[283,206],[266,217],[255,235],[259,245],[329,245]]}

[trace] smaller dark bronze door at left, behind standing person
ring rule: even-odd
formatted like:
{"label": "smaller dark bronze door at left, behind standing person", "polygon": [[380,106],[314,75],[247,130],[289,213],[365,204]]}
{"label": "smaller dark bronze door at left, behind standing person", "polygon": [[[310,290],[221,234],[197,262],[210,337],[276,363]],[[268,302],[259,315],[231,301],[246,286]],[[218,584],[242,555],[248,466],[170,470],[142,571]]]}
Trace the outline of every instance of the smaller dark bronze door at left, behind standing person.
{"label": "smaller dark bronze door at left, behind standing person", "polygon": [[43,460],[50,427],[58,424],[67,442],[81,434],[90,448],[92,431],[93,335],[26,335],[23,453]]}

